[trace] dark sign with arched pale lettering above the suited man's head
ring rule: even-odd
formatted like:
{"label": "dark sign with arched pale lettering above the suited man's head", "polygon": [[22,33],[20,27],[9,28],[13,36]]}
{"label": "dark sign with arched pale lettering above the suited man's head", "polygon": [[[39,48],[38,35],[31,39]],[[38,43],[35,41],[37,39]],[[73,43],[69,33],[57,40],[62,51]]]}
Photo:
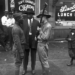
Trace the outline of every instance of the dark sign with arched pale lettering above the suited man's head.
{"label": "dark sign with arched pale lettering above the suited man's head", "polygon": [[15,11],[25,13],[27,9],[32,9],[35,12],[35,3],[33,1],[17,0],[15,3]]}

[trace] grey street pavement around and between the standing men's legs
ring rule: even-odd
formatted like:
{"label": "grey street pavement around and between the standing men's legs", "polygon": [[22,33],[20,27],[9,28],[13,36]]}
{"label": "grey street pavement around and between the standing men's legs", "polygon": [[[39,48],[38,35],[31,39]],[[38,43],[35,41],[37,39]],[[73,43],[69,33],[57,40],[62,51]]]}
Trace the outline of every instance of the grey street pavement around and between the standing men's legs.
{"label": "grey street pavement around and between the standing men's legs", "polygon": [[[28,73],[31,75],[31,58],[29,58]],[[67,43],[50,42],[49,43],[49,65],[50,75],[75,75],[75,61],[74,65],[69,67],[70,58],[68,56]],[[21,66],[20,75],[22,75],[23,67]],[[39,62],[38,54],[36,61],[36,74],[41,75],[42,68]],[[14,57],[11,51],[0,52],[0,75],[15,75]]]}

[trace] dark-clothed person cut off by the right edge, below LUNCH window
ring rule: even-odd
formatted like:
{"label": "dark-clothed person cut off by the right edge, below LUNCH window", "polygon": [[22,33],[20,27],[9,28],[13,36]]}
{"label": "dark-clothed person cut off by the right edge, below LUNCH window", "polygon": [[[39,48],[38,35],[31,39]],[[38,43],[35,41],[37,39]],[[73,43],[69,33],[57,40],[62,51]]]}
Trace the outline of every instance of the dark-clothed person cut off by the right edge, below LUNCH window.
{"label": "dark-clothed person cut off by the right edge, below LUNCH window", "polygon": [[75,59],[75,30],[71,29],[70,33],[67,35],[66,40],[68,41],[68,52],[71,58],[70,64],[67,66],[73,65],[73,60]]}

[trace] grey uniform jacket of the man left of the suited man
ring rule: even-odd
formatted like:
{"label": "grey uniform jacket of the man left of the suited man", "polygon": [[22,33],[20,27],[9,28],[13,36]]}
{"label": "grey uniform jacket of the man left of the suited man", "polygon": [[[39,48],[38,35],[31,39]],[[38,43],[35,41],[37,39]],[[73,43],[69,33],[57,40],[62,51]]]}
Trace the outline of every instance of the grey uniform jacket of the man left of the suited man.
{"label": "grey uniform jacket of the man left of the suited man", "polygon": [[14,25],[12,28],[12,36],[14,42],[13,50],[15,54],[18,54],[19,56],[23,56],[24,55],[23,45],[26,42],[23,30],[19,26]]}

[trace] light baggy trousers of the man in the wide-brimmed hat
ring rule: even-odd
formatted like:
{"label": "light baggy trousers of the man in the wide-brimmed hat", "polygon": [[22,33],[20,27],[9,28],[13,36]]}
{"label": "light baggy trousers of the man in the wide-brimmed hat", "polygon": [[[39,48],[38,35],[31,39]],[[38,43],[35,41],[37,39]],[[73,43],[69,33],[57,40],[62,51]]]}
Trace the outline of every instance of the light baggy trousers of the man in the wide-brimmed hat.
{"label": "light baggy trousers of the man in the wide-brimmed hat", "polygon": [[41,62],[43,71],[49,69],[47,45],[42,42],[39,42],[37,46],[37,51],[38,51],[39,60]]}

